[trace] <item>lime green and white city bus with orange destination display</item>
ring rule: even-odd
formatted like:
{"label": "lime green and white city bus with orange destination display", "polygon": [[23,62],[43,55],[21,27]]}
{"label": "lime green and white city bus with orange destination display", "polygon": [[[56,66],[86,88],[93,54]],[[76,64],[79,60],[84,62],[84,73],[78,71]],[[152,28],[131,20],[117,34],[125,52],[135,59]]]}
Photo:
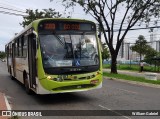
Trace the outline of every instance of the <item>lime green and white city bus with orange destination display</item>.
{"label": "lime green and white city bus with orange destination display", "polygon": [[38,19],[6,44],[8,72],[28,94],[101,88],[100,43],[92,21]]}

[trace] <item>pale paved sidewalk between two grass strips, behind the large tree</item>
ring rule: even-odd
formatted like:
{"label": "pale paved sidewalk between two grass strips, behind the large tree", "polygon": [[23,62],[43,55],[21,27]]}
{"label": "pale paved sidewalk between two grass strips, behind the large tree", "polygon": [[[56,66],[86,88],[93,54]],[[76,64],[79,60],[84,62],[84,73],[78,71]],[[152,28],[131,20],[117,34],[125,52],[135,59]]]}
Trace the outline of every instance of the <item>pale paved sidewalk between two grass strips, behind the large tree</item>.
{"label": "pale paved sidewalk between two grass strips, behind the large tree", "polygon": [[[110,69],[103,69],[104,72],[110,72]],[[118,70],[119,74],[126,74],[130,76],[137,76],[137,77],[145,77],[145,73],[151,72],[136,72],[136,71],[127,71],[127,70]],[[160,79],[160,73],[157,73],[157,79]]]}

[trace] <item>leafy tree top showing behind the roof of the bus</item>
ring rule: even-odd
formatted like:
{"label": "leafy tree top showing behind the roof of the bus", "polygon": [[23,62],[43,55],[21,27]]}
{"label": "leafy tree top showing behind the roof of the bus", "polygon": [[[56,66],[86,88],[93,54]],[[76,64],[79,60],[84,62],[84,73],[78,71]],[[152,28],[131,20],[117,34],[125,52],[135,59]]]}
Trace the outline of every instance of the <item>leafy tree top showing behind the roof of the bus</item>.
{"label": "leafy tree top showing behind the roof of the bus", "polygon": [[62,14],[59,12],[56,12],[55,9],[49,8],[49,9],[43,9],[42,11],[38,11],[36,9],[35,11],[26,9],[26,13],[28,16],[23,17],[23,22],[20,23],[23,27],[29,25],[32,21],[40,18],[59,18],[62,17]]}

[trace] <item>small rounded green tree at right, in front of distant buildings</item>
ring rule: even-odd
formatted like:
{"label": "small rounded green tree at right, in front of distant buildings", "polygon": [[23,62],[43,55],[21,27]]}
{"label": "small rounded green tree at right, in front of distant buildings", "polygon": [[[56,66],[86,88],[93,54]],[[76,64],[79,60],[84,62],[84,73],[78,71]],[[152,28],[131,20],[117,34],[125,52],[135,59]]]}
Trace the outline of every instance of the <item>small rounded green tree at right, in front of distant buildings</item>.
{"label": "small rounded green tree at right, in front of distant buildings", "polygon": [[147,41],[145,40],[145,37],[143,35],[139,35],[138,40],[136,40],[135,45],[133,45],[131,49],[139,53],[140,62],[142,60],[142,55],[145,55],[146,53],[148,53],[148,51],[151,51],[151,47],[147,45]]}

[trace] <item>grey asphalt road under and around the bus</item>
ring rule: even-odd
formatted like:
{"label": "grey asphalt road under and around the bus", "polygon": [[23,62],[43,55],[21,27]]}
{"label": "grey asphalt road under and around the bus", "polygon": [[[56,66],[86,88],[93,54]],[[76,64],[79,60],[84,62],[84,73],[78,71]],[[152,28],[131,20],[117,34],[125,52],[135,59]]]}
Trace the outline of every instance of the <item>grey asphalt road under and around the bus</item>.
{"label": "grey asphalt road under and around the bus", "polygon": [[[158,110],[160,90],[104,78],[101,89],[54,95],[27,95],[16,80],[11,80],[5,62],[0,62],[0,92],[7,95],[13,110]],[[116,113],[116,112],[115,112]],[[20,119],[26,119],[21,117]],[[34,117],[33,119],[53,117]],[[137,119],[137,116],[72,116],[54,119]],[[153,117],[141,116],[138,119]],[[154,117],[154,119],[158,117]],[[28,119],[32,119],[29,117]]]}

